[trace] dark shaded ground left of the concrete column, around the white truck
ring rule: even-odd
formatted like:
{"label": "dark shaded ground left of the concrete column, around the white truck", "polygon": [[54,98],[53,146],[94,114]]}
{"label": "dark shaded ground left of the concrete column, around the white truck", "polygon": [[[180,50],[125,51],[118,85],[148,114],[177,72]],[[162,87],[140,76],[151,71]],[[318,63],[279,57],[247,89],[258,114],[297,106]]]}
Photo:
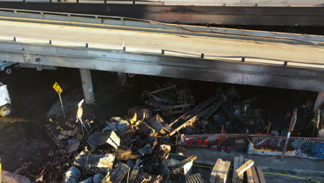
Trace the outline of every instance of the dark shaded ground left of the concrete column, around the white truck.
{"label": "dark shaded ground left of the concrete column, around the white truck", "polygon": [[79,79],[78,70],[74,69],[20,69],[10,76],[1,74],[1,82],[8,85],[13,109],[12,116],[0,118],[0,157],[4,170],[15,171],[21,163],[29,161],[36,167],[42,164],[45,158],[42,150],[51,146],[42,128],[44,114],[57,101],[52,85],[57,81],[64,87],[75,88],[80,84]]}

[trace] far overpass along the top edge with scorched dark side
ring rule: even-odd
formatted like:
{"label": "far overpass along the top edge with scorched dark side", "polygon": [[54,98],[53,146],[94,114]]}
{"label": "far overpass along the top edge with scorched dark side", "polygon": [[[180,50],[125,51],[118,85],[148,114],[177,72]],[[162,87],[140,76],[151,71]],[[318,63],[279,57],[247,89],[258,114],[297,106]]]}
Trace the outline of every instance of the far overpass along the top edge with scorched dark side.
{"label": "far overpass along the top edge with scorched dark side", "polygon": [[[55,0],[52,3],[48,1],[52,0],[0,1],[0,8],[133,17],[179,24],[324,26],[323,0],[144,0],[144,2],[68,0],[62,3]],[[223,4],[219,6],[218,3],[226,6]],[[197,4],[199,6],[193,6]]]}

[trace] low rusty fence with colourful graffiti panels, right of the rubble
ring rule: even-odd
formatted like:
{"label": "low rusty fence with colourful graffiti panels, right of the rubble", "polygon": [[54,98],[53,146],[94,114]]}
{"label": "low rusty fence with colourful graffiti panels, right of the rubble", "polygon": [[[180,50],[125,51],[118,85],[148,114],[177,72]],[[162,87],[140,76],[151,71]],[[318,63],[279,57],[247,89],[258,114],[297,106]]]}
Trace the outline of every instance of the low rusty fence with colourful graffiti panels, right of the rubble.
{"label": "low rusty fence with colourful graffiti panels, right of the rubble", "polygon": [[287,137],[272,137],[262,134],[195,134],[182,135],[181,144],[215,150],[235,150],[253,155],[306,157],[324,159],[324,139],[291,137],[287,148]]}

